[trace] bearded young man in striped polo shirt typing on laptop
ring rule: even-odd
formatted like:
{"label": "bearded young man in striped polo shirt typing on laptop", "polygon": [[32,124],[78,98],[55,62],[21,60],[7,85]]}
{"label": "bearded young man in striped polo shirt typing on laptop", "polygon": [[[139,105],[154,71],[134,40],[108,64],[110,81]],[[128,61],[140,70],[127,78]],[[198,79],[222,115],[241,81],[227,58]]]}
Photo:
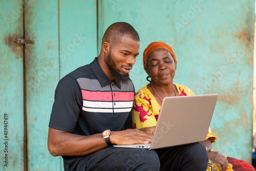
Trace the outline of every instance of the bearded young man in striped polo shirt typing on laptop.
{"label": "bearded young man in striped polo shirt typing on laptop", "polygon": [[[59,81],[49,123],[48,149],[53,156],[62,156],[65,170],[160,169],[161,157],[155,151],[112,147],[149,143],[153,137],[152,127],[130,129],[135,92],[129,72],[139,54],[139,41],[130,24],[114,23],[102,38],[99,57]],[[195,146],[178,167],[191,168],[197,161],[206,170],[208,158],[203,148]]]}

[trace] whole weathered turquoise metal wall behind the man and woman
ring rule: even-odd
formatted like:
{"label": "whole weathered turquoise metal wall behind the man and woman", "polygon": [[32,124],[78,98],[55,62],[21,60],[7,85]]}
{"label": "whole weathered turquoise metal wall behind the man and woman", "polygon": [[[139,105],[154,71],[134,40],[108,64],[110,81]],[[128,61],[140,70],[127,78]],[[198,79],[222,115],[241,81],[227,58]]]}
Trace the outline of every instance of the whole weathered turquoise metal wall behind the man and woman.
{"label": "whole weathered turquoise metal wall behind the man and woman", "polygon": [[[213,149],[250,162],[254,19],[253,0],[1,1],[0,128],[3,135],[8,114],[9,165],[0,170],[63,170],[62,159],[47,149],[55,87],[98,55],[105,29],[120,21],[140,35],[131,71],[135,89],[147,84],[143,50],[166,42],[178,59],[175,83],[196,94],[219,94],[210,125],[219,137]],[[34,45],[16,44],[14,37]]]}

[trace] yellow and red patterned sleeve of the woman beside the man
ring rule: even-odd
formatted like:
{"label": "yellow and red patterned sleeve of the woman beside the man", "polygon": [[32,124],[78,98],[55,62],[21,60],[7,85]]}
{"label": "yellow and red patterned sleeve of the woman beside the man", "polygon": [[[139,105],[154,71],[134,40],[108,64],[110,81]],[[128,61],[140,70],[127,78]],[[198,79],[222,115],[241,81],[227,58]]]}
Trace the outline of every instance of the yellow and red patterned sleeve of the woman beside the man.
{"label": "yellow and red patterned sleeve of the woman beside the man", "polygon": [[150,98],[145,97],[143,92],[137,94],[134,98],[132,108],[132,122],[134,129],[156,126],[157,120],[152,112]]}

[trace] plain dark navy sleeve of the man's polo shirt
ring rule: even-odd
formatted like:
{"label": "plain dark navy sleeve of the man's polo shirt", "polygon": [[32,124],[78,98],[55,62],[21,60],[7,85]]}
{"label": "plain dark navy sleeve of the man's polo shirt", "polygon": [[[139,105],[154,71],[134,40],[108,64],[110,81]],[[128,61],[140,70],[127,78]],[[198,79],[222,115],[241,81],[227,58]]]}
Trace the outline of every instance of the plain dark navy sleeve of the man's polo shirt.
{"label": "plain dark navy sleeve of the man's polo shirt", "polygon": [[49,127],[74,132],[82,108],[82,95],[75,78],[63,77],[55,90]]}

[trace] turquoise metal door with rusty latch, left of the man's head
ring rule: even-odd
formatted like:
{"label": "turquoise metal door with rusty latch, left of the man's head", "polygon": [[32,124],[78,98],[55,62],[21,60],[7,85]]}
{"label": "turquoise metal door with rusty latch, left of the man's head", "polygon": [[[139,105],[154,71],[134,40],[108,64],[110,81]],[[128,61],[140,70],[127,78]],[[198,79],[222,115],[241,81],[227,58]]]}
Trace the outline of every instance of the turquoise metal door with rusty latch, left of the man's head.
{"label": "turquoise metal door with rusty latch, left of the man's head", "polygon": [[[47,149],[54,90],[97,56],[96,1],[6,0],[1,9],[0,125],[4,135],[8,119],[8,134],[0,152],[8,167],[0,170],[63,170],[62,158]],[[16,44],[15,37],[34,45]]]}

